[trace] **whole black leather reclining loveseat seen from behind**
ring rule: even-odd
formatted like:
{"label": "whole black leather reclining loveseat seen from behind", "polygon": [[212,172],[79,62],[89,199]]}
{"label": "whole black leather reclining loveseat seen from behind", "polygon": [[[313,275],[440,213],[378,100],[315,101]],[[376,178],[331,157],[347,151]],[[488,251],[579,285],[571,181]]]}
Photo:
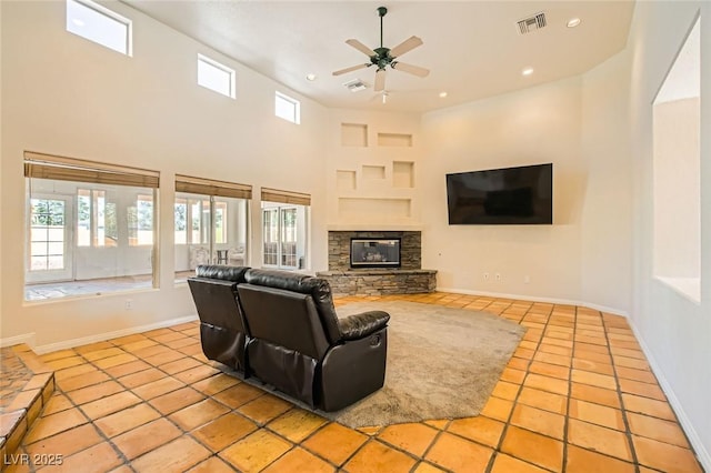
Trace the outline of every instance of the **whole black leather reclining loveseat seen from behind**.
{"label": "whole black leather reclining loveseat seen from behind", "polygon": [[382,388],[390,315],[339,319],[324,279],[200,265],[188,283],[208,359],[327,412]]}

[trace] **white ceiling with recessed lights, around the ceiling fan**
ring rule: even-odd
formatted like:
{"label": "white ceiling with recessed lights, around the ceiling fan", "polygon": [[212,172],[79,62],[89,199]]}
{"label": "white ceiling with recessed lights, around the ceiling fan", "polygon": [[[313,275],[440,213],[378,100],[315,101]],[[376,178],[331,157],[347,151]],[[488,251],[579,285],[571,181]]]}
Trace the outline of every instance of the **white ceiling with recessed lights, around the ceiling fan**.
{"label": "white ceiling with recessed lights, around the ceiling fan", "polygon": [[[123,1],[327,107],[417,112],[585,72],[624,48],[634,6],[633,0]],[[375,68],[331,74],[369,62],[344,41],[378,48],[381,6],[388,8],[383,46],[420,37],[424,44],[401,59],[431,70],[421,79],[388,69],[387,104],[372,90]],[[541,11],[548,26],[520,34],[517,21]],[[573,17],[581,23],[568,28]],[[529,67],[534,72],[523,77]],[[308,73],[317,80],[308,81]],[[351,79],[369,88],[350,92],[343,82]],[[441,99],[441,91],[448,97]]]}

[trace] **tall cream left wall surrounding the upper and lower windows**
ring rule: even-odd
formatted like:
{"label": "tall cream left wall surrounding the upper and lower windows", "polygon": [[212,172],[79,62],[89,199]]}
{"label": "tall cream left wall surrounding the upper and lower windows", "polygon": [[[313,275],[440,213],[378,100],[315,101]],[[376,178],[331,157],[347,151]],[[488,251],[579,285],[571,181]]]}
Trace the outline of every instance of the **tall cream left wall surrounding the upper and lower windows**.
{"label": "tall cream left wall surrounding the upper and lower windows", "polygon": [[[311,266],[327,268],[324,108],[120,2],[111,8],[133,21],[131,58],[68,33],[64,2],[1,8],[0,214],[16,233],[1,241],[0,339],[51,346],[194,315],[187,285],[173,284],[176,173],[252,184],[251,241],[261,238],[260,187],[310,193]],[[237,70],[237,100],[197,85],[198,53]],[[300,125],[274,117],[274,90],[302,101]],[[23,302],[24,150],[160,171],[159,290]]]}

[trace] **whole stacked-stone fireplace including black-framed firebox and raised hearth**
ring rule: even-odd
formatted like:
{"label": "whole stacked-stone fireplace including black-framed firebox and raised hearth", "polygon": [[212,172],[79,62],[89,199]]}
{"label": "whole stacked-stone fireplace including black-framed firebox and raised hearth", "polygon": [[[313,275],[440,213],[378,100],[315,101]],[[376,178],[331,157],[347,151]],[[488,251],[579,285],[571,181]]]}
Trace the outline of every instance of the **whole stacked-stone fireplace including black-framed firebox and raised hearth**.
{"label": "whole stacked-stone fireplace including black-framed firebox and raised hearth", "polygon": [[[354,242],[364,244],[352,253]],[[394,242],[399,263],[390,261]],[[421,253],[419,231],[329,231],[329,271],[317,275],[329,280],[336,295],[433,292],[437,271],[422,269]]]}

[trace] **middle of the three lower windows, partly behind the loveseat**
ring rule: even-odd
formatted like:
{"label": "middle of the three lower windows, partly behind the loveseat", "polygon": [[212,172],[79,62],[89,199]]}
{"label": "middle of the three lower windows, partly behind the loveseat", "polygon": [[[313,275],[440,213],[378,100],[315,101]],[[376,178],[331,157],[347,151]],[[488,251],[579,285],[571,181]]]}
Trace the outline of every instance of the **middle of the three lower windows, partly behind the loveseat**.
{"label": "middle of the three lower windows, partly behind the loveseat", "polygon": [[251,198],[251,185],[176,175],[176,282],[200,264],[247,263]]}

